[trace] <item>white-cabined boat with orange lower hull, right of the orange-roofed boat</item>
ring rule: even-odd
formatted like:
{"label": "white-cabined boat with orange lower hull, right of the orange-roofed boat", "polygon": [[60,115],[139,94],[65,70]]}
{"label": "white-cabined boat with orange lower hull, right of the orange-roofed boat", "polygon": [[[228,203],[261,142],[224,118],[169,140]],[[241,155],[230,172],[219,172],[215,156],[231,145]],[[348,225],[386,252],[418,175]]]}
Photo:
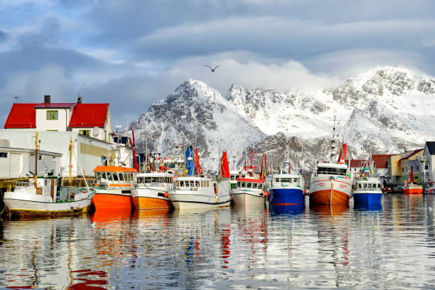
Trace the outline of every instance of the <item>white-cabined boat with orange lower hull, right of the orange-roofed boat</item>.
{"label": "white-cabined boat with orange lower hull, right of the orange-roofed boat", "polygon": [[172,208],[168,192],[174,188],[175,175],[163,169],[161,171],[136,174],[136,185],[131,188],[131,197],[136,210]]}

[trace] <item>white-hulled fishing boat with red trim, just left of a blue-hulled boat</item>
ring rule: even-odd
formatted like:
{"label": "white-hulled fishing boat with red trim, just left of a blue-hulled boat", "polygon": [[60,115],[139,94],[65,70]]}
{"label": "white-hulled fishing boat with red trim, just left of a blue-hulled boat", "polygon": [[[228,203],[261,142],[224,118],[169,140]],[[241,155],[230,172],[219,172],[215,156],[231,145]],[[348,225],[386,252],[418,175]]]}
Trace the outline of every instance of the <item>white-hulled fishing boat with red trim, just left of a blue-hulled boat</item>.
{"label": "white-hulled fishing boat with red trim, just left of a blue-hulled boat", "polygon": [[237,179],[237,186],[231,192],[231,198],[235,205],[264,205],[266,195],[264,194],[266,177],[266,156],[262,158],[262,169],[259,176],[254,175],[252,159],[254,152],[251,151],[251,163],[248,169],[248,176],[240,176]]}

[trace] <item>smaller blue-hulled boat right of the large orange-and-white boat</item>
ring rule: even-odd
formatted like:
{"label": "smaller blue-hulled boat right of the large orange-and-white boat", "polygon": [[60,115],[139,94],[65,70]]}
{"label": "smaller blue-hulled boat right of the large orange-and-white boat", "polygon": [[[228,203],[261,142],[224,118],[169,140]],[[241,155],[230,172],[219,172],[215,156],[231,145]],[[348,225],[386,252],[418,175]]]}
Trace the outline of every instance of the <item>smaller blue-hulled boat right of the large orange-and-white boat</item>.
{"label": "smaller blue-hulled boat right of the large orange-and-white boat", "polygon": [[374,175],[375,168],[369,159],[361,167],[360,177],[355,181],[353,204],[357,207],[377,207],[381,205],[382,185],[380,178]]}

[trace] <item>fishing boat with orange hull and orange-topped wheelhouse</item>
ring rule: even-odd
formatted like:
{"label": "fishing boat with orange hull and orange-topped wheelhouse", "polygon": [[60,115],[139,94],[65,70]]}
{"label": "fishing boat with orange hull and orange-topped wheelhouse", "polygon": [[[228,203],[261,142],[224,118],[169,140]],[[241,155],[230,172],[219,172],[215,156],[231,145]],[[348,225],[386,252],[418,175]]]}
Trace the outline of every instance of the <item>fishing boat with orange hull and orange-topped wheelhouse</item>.
{"label": "fishing boat with orange hull and orange-topped wheelhouse", "polygon": [[97,186],[92,204],[95,210],[131,210],[131,188],[134,186],[135,168],[97,166],[94,169]]}

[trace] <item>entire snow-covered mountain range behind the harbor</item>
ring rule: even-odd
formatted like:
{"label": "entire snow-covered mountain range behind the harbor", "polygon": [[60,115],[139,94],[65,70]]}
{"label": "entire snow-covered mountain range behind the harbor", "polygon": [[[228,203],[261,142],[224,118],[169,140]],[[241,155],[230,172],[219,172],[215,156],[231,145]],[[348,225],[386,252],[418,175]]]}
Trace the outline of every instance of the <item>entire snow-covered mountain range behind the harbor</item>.
{"label": "entire snow-covered mountain range behind the harbor", "polygon": [[188,80],[129,129],[142,140],[153,134],[154,149],[166,154],[173,153],[174,143],[195,139],[209,165],[218,143],[231,156],[240,157],[250,146],[277,161],[284,155],[285,134],[293,144],[294,166],[310,169],[328,156],[333,116],[355,157],[364,142],[383,154],[421,148],[435,136],[434,97],[435,79],[405,68],[377,68],[325,90],[232,85],[226,98],[204,82]]}

